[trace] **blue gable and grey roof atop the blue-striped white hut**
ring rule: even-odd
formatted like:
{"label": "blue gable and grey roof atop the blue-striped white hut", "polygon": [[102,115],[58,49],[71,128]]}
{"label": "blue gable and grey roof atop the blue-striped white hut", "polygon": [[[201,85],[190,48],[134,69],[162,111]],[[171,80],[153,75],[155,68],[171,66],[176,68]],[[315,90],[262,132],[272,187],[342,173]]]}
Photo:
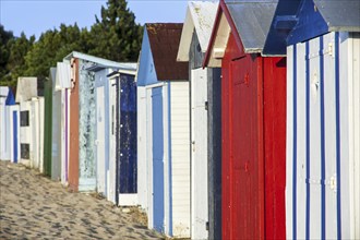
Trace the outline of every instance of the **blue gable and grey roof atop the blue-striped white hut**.
{"label": "blue gable and grey roof atop the blue-striped white hut", "polygon": [[360,0],[279,0],[263,55],[339,31],[360,32]]}

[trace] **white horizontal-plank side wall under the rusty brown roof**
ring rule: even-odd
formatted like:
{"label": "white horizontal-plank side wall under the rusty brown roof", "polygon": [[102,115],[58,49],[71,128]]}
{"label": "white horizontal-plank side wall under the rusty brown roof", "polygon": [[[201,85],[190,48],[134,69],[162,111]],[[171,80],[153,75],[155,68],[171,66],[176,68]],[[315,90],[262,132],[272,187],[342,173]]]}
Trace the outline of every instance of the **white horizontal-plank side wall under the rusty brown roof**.
{"label": "white horizontal-plank side wall under the rusty brown roof", "polygon": [[190,237],[189,83],[170,83],[172,233]]}

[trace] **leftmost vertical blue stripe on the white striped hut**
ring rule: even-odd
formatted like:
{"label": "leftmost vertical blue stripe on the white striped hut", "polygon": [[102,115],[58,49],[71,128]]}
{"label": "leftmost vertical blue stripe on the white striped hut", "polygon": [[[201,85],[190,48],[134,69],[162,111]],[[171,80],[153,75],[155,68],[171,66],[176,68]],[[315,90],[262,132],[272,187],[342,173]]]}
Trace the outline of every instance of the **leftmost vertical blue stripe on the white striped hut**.
{"label": "leftmost vertical blue stripe on the white striped hut", "polygon": [[293,45],[293,87],[292,87],[292,108],[293,108],[293,116],[292,116],[292,239],[297,239],[297,134],[298,134],[298,109],[297,109],[297,45]]}

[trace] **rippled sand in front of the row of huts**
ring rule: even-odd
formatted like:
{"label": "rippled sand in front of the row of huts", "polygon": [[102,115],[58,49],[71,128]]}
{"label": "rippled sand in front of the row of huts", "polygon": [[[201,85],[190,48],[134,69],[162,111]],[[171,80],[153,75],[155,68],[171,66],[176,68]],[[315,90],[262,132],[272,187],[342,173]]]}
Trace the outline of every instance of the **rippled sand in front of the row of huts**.
{"label": "rippled sand in front of the row of huts", "polygon": [[144,219],[136,208],[71,193],[35,170],[0,160],[0,239],[165,239]]}

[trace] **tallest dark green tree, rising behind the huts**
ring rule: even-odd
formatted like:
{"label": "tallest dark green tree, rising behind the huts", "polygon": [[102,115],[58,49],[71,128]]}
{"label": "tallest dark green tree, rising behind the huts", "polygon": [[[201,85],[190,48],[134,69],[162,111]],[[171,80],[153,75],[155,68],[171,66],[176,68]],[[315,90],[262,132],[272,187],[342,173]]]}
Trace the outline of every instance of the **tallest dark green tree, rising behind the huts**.
{"label": "tallest dark green tree, rising behind the huts", "polygon": [[125,0],[108,0],[91,29],[89,55],[113,61],[137,61],[143,28]]}

